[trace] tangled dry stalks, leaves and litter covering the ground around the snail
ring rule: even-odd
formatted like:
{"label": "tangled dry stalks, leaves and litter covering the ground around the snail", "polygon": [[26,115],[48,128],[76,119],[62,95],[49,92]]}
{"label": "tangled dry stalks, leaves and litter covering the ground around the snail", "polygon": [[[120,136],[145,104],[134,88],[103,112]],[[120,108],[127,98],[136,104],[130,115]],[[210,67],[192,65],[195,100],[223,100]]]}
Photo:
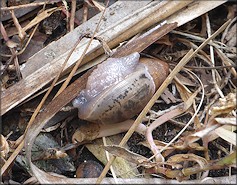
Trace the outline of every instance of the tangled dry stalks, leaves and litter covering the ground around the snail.
{"label": "tangled dry stalks, leaves and litter covering the ground around the snail", "polygon": [[[3,0],[0,24],[3,183],[234,183],[235,1]],[[91,71],[133,52],[169,64],[144,109],[80,120]]]}

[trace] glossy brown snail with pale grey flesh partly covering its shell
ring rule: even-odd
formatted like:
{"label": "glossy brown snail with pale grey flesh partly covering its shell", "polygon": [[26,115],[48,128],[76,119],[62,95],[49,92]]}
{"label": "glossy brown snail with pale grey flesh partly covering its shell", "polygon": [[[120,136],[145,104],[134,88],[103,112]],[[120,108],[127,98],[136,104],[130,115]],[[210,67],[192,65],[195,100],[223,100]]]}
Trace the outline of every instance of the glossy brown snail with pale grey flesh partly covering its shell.
{"label": "glossy brown snail with pale grey flesh partly covering its shell", "polygon": [[164,61],[140,58],[138,52],[108,58],[92,71],[86,88],[72,101],[78,117],[98,123],[118,123],[134,117],[168,76]]}

